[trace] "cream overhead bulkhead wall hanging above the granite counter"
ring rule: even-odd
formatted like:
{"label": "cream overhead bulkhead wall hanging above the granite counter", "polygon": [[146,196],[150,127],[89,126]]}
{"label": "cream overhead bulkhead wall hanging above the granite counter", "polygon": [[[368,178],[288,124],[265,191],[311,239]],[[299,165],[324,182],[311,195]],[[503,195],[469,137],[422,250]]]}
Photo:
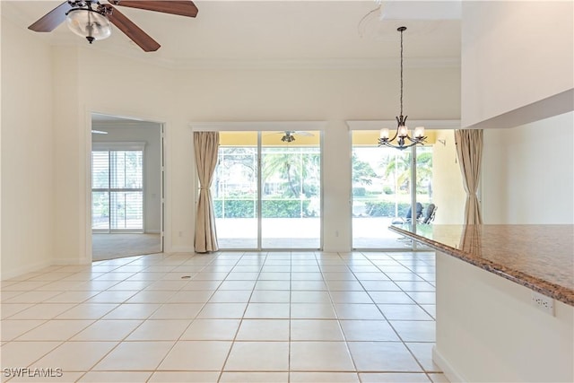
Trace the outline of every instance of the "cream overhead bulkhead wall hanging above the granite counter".
{"label": "cream overhead bulkhead wall hanging above the granite counter", "polygon": [[573,17],[571,1],[464,1],[462,126],[517,126],[572,110]]}

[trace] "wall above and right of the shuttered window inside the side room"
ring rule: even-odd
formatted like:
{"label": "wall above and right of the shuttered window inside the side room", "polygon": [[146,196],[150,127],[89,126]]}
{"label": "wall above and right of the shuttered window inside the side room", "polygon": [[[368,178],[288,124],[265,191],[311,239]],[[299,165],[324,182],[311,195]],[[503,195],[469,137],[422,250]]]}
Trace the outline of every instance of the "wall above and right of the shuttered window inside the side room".
{"label": "wall above and right of the shuttered window inside the side room", "polygon": [[92,143],[144,143],[143,149],[143,231],[159,233],[161,229],[161,126],[137,121],[128,124],[98,124],[108,135],[91,135]]}

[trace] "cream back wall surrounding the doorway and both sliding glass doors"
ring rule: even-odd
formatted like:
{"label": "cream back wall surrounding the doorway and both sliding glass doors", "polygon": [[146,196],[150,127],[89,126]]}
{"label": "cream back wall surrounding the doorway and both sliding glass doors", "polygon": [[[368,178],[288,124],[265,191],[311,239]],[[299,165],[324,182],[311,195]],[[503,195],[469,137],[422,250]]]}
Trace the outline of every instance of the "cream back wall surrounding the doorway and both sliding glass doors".
{"label": "cream back wall surrounding the doorway and both sliding glass doors", "polygon": [[[3,46],[4,39],[26,46],[19,36],[3,33]],[[55,208],[49,220],[56,227],[55,262],[91,261],[86,256],[91,248],[91,112],[165,123],[166,251],[193,250],[196,179],[191,122],[326,121],[324,247],[351,249],[351,140],[344,121],[395,118],[397,68],[172,70],[89,46],[52,48],[52,54],[55,140],[50,150],[55,169],[45,177],[55,179]],[[14,57],[13,65],[22,64]],[[458,119],[459,74],[457,67],[405,68],[409,82],[404,104],[410,118]],[[4,89],[10,91],[3,76]],[[28,93],[33,89],[30,84]],[[13,109],[22,111],[29,105],[20,100]],[[16,147],[22,150],[25,144]]]}

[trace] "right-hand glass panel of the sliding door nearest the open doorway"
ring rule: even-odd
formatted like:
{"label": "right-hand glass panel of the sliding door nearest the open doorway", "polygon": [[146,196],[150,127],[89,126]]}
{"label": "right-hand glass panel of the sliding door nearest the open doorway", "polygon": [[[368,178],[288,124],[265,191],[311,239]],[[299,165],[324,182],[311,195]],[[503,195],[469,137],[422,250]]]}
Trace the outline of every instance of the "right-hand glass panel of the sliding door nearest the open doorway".
{"label": "right-hand glass panel of the sliding door nearest the open doorway", "polygon": [[320,248],[321,152],[318,132],[264,132],[261,151],[262,248]]}

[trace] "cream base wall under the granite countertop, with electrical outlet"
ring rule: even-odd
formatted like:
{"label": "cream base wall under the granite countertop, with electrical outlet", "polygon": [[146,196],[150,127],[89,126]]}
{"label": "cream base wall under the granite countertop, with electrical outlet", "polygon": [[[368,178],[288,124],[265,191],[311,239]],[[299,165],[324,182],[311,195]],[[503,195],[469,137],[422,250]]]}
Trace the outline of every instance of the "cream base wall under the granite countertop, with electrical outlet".
{"label": "cream base wall under the granite countertop, with electrical outlet", "polygon": [[574,307],[553,300],[552,316],[535,307],[532,292],[437,252],[433,360],[449,381],[574,381]]}

